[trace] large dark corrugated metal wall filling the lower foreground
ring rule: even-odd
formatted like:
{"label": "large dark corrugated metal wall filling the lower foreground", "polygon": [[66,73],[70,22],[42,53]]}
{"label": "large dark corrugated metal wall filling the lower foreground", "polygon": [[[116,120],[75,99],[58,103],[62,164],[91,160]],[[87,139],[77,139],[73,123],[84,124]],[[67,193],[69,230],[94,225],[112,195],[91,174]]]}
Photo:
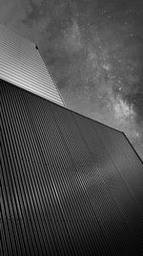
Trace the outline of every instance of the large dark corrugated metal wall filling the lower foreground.
{"label": "large dark corrugated metal wall filling the lower foreground", "polygon": [[124,134],[6,81],[1,121],[2,255],[142,255],[143,166]]}

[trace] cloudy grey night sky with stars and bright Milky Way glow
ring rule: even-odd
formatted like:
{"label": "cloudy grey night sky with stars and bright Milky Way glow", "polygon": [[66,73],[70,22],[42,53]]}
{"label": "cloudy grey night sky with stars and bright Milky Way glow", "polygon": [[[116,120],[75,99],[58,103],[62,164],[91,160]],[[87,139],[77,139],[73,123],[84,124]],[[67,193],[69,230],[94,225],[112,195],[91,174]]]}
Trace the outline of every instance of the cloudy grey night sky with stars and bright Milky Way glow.
{"label": "cloudy grey night sky with stars and bright Milky Way glow", "polygon": [[143,159],[143,0],[0,0],[0,23],[37,42],[69,108]]}

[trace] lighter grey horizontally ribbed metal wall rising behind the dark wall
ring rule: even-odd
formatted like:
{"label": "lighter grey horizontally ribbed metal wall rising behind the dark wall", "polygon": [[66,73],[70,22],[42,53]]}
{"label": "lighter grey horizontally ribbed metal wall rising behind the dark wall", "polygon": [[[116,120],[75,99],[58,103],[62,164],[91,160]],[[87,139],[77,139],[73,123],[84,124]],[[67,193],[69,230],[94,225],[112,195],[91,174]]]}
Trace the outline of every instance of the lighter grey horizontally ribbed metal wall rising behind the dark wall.
{"label": "lighter grey horizontally ribbed metal wall rising behind the dark wall", "polygon": [[64,105],[35,44],[0,25],[0,78]]}

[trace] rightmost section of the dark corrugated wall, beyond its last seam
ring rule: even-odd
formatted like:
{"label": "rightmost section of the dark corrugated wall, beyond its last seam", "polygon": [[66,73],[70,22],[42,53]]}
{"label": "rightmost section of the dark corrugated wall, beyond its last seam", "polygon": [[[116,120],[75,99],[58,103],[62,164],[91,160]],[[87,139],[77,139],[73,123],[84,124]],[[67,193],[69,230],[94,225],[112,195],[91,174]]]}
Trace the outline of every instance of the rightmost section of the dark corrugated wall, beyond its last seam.
{"label": "rightmost section of the dark corrugated wall, beyond its last seam", "polygon": [[138,207],[143,209],[143,163],[139,156],[134,153],[133,147],[131,147],[123,132],[117,132],[93,122],[92,126],[100,135],[109,155],[112,157],[113,165],[127,184]]}

